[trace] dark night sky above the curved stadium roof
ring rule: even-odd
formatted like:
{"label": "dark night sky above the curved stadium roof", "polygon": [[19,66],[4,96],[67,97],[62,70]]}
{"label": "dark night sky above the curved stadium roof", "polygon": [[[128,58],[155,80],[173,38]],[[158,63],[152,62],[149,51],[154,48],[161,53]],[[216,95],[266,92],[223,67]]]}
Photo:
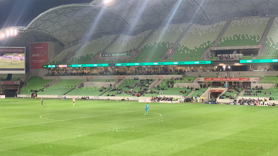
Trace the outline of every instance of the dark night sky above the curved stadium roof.
{"label": "dark night sky above the curved stadium roof", "polygon": [[42,12],[63,4],[89,3],[92,0],[0,0],[0,29],[27,26]]}

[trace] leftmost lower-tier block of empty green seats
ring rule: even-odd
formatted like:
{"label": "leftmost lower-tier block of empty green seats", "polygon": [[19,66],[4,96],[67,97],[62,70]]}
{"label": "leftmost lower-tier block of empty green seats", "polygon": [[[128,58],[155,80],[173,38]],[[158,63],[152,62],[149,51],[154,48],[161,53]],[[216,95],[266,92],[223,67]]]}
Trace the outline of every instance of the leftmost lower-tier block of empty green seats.
{"label": "leftmost lower-tier block of empty green seats", "polygon": [[27,86],[21,88],[20,94],[32,94],[31,90],[42,90],[47,83],[52,80],[44,80],[41,77],[31,77],[28,82]]}

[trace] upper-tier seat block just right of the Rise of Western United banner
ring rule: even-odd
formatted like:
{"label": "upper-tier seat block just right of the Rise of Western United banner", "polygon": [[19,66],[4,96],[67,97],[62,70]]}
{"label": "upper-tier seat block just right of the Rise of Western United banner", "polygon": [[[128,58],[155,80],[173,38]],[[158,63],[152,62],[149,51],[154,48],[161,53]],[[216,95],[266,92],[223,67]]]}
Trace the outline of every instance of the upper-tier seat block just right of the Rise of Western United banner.
{"label": "upper-tier seat block just right of the Rise of Western United banner", "polygon": [[129,62],[162,61],[164,53],[173,47],[190,23],[170,24],[156,29],[140,47],[140,53]]}

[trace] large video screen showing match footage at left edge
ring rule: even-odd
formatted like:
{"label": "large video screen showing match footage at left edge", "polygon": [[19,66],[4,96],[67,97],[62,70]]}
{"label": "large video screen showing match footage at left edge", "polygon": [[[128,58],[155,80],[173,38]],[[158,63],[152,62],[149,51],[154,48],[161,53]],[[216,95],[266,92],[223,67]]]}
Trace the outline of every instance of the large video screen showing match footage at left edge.
{"label": "large video screen showing match footage at left edge", "polygon": [[25,47],[0,47],[0,73],[25,73]]}

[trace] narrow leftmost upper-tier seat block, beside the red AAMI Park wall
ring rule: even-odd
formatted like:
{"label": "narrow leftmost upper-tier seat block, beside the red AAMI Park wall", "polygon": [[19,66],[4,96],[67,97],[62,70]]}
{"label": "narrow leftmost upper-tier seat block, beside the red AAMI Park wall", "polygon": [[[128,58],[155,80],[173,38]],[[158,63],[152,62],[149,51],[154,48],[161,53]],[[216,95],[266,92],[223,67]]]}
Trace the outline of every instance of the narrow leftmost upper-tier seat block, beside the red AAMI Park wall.
{"label": "narrow leftmost upper-tier seat block, beside the red AAMI Park wall", "polygon": [[70,48],[67,48],[63,51],[61,51],[57,56],[55,56],[51,61],[49,61],[48,65],[53,64],[61,64],[62,60],[67,57],[69,54],[73,53],[81,44],[77,44],[75,46],[72,46]]}

